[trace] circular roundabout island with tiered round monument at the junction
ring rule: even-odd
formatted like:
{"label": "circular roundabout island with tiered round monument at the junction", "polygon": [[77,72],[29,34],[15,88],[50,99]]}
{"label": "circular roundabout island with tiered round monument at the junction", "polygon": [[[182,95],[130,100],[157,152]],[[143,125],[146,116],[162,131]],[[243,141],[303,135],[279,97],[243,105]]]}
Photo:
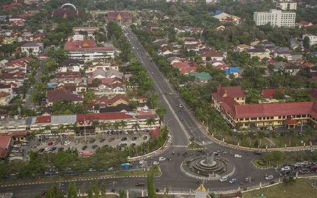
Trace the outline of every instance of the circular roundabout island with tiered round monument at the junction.
{"label": "circular roundabout island with tiered round monument at the junction", "polygon": [[202,180],[218,180],[234,173],[234,165],[229,160],[211,155],[192,156],[181,164],[183,173]]}

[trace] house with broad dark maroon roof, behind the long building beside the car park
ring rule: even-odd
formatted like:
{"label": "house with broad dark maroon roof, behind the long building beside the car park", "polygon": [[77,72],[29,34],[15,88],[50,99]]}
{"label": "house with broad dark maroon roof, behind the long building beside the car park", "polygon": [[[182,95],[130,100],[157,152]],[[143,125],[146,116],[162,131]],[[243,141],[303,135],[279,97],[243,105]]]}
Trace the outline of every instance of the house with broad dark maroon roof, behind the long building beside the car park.
{"label": "house with broad dark maroon roof, behind the long building beside the car park", "polygon": [[46,93],[47,105],[52,106],[54,101],[72,101],[74,103],[83,102],[84,99],[77,94],[69,93],[65,88],[59,87],[53,91],[48,91]]}

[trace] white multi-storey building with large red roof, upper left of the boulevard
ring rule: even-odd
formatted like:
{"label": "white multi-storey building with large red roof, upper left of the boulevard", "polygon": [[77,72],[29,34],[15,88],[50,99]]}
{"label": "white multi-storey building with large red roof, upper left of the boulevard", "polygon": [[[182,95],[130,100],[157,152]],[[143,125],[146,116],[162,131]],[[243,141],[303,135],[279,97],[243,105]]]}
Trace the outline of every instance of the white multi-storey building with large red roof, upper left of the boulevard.
{"label": "white multi-storey building with large red roof, upper left of the boulevard", "polygon": [[112,47],[96,47],[94,40],[68,41],[64,48],[68,51],[71,59],[83,59],[86,61],[114,58],[114,49]]}

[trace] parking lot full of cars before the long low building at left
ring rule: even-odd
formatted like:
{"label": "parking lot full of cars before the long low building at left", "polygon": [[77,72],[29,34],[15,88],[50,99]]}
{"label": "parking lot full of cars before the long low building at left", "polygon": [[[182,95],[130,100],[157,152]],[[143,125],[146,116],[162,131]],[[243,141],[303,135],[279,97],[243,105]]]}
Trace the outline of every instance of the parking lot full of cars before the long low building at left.
{"label": "parking lot full of cars before the long low building at left", "polygon": [[[115,134],[115,135],[111,135]],[[120,135],[117,135],[120,134]],[[60,149],[66,150],[68,148],[75,149],[78,151],[87,150],[92,151],[99,149],[103,146],[119,148],[125,146],[135,146],[141,143],[147,142],[150,138],[149,132],[140,131],[136,133],[121,133],[121,132],[109,132],[108,134],[96,134],[85,137],[76,137],[73,135],[63,136],[42,136],[41,138],[36,137],[33,140],[22,142],[15,142],[12,144],[12,148],[9,152],[9,159],[27,159],[27,152],[29,149],[37,150],[40,152],[57,152]],[[86,141],[85,141],[86,140]],[[42,142],[42,143],[41,143]],[[62,144],[64,143],[64,144]],[[50,148],[50,149],[49,149]]]}

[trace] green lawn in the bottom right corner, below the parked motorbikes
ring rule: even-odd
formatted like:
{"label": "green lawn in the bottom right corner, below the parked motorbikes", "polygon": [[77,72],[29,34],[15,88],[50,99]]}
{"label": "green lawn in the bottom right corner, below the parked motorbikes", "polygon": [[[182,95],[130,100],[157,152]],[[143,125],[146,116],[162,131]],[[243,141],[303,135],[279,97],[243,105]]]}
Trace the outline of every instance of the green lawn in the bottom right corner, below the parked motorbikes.
{"label": "green lawn in the bottom right corner, below the parked motorbikes", "polygon": [[264,194],[267,198],[316,198],[317,190],[314,190],[306,179],[296,179],[295,183],[288,186],[279,184],[261,190],[243,193],[244,198],[256,198]]}

